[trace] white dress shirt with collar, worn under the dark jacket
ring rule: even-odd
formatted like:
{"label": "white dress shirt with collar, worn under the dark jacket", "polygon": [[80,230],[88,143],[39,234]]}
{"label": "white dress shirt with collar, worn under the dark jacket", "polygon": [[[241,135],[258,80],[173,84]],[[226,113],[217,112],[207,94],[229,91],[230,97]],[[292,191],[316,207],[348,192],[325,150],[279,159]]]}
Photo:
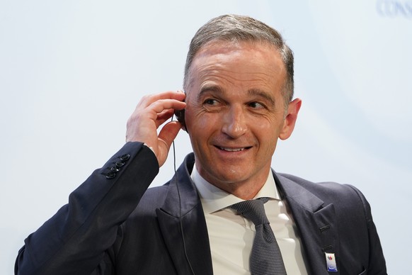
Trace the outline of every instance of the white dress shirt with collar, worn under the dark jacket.
{"label": "white dress shirt with collar, worn under the dark jacket", "polygon": [[[244,201],[210,184],[193,167],[191,177],[205,212],[207,232],[212,253],[213,274],[251,274],[249,256],[255,237],[255,225],[234,209],[234,203]],[[265,212],[282,252],[287,274],[307,275],[302,245],[286,202],[280,199],[275,179],[270,171],[265,185],[255,198],[268,197]]]}

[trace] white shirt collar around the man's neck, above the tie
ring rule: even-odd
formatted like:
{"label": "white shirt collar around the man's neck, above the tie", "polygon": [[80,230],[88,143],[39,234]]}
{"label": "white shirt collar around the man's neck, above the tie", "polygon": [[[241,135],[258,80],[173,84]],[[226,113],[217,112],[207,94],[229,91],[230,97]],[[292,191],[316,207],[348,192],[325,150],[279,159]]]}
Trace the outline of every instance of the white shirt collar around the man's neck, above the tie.
{"label": "white shirt collar around the man's neck, above the tie", "polygon": [[[200,176],[198,169],[196,169],[196,166],[193,167],[190,177],[195,183],[196,189],[198,189],[200,201],[202,203],[203,211],[205,212],[205,214],[210,214],[223,208],[227,208],[234,203],[244,201],[241,198],[232,195],[231,193],[227,193],[226,191],[217,188],[213,184],[210,184],[210,182],[203,179],[203,177]],[[255,196],[255,198],[261,197],[273,198],[280,201],[279,192],[276,188],[272,170],[269,171],[268,179],[266,179],[265,184]]]}

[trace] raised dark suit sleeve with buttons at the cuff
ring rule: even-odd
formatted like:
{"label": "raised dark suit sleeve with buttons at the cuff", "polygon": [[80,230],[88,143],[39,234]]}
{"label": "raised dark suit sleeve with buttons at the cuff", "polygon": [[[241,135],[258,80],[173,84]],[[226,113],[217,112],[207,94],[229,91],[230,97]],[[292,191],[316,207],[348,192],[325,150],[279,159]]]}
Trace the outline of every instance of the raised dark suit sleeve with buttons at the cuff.
{"label": "raised dark suit sleeve with buttons at the cuff", "polygon": [[69,203],[29,235],[15,274],[111,274],[120,225],[159,172],[151,150],[128,142],[69,196]]}

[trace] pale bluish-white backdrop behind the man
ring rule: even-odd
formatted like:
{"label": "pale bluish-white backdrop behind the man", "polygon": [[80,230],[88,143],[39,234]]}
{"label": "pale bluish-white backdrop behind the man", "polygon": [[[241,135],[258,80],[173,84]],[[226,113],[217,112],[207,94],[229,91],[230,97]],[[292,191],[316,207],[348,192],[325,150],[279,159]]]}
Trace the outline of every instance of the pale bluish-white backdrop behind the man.
{"label": "pale bluish-white backdrop behind the man", "polygon": [[[273,167],[357,186],[390,274],[411,259],[412,1],[0,1],[0,273],[124,143],[144,94],[181,89],[195,31],[223,13],[280,30],[297,128]],[[177,162],[190,152],[176,140]],[[153,186],[173,174],[172,158]]]}

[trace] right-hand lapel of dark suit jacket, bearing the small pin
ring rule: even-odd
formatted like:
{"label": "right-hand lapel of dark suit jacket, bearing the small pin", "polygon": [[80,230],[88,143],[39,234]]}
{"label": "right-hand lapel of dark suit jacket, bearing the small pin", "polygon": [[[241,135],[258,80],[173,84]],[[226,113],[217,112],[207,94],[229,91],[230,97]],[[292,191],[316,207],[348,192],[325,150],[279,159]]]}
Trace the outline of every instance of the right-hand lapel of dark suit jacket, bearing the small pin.
{"label": "right-hand lapel of dark suit jacket, bearing the small pin", "polygon": [[[302,240],[307,266],[311,274],[330,274],[326,266],[325,252],[339,258],[338,230],[333,203],[324,206],[324,201],[296,182],[275,174],[275,181],[282,197],[292,211]],[[333,274],[339,274],[334,272]]]}

